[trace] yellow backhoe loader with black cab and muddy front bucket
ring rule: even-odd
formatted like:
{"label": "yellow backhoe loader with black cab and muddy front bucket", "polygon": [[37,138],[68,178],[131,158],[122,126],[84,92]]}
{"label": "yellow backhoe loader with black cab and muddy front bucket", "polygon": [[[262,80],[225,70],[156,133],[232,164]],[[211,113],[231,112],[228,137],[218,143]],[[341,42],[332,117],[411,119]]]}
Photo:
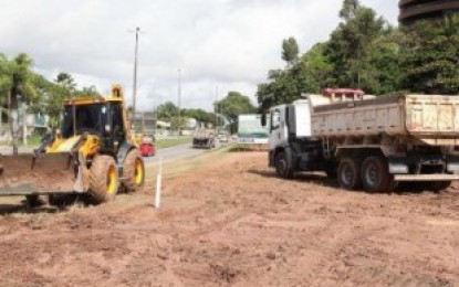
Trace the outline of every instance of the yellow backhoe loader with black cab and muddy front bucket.
{"label": "yellow backhoe loader with black cab and muddy front bucket", "polygon": [[32,155],[0,157],[0,195],[25,195],[31,205],[43,195],[88,194],[94,203],[118,190],[144,184],[144,161],[124,103],[113,85],[107,97],[67,99],[63,124]]}

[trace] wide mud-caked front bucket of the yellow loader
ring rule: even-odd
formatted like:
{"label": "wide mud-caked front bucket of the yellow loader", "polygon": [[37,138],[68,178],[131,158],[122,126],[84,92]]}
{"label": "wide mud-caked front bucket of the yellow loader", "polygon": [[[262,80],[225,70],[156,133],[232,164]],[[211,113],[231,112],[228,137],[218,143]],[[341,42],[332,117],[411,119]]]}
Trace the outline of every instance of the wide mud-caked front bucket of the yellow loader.
{"label": "wide mud-caked front bucket of the yellow loader", "polygon": [[0,195],[73,192],[76,183],[69,153],[0,156]]}

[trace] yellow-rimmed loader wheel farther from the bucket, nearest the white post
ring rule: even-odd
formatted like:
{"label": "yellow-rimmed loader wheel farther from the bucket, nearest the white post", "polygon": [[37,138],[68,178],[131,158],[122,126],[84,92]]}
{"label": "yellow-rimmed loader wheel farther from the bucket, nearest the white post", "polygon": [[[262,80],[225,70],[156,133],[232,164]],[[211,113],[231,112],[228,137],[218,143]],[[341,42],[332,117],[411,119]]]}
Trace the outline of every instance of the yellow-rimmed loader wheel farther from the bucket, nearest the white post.
{"label": "yellow-rimmed loader wheel farther from the bucket, nearest the white post", "polygon": [[123,164],[122,183],[127,192],[135,192],[144,185],[145,167],[140,152],[137,149],[131,150]]}

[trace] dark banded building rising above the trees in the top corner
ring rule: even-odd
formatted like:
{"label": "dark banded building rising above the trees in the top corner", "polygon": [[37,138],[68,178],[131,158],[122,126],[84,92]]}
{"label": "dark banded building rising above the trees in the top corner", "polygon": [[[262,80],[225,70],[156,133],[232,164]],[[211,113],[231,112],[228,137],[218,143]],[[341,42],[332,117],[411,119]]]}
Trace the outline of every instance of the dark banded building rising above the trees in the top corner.
{"label": "dark banded building rising above the trees in the top corner", "polygon": [[459,0],[400,0],[398,21],[409,24],[416,20],[444,17],[459,11]]}

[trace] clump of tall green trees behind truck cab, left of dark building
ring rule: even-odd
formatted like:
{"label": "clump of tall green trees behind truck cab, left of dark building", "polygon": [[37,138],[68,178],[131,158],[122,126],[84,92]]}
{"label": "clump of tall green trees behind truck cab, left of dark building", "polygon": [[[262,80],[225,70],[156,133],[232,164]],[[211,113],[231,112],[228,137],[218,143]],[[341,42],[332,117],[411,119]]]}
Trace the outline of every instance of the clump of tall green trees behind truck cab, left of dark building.
{"label": "clump of tall green trees behind truck cab, left of dark building", "polygon": [[[285,56],[285,51],[292,49],[285,49],[290,42],[284,40],[282,57],[290,61],[288,68],[270,71],[268,82],[258,85],[260,111],[291,103],[302,93],[320,93],[327,86],[388,93],[398,84],[399,49],[394,42],[394,30],[358,0],[344,0],[340,17],[342,22],[331,39],[314,45],[300,57]],[[291,43],[295,46],[295,41]]]}

